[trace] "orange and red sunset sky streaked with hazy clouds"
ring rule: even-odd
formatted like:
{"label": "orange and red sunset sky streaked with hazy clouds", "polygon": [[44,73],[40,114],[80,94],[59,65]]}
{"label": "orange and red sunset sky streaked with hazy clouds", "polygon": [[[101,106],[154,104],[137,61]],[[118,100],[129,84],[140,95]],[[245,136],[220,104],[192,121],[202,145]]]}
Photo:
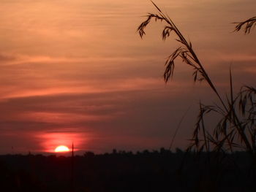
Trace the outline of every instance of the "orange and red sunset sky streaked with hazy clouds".
{"label": "orange and red sunset sky streaked with hazy clouds", "polygon": [[[255,0],[154,1],[192,42],[218,90],[255,86],[256,31],[233,32],[255,16]],[[186,148],[198,103],[217,101],[206,83],[176,62],[165,84],[163,23],[137,28],[148,0],[0,1],[0,153],[53,152],[58,145],[95,153]],[[211,121],[211,119],[210,119]]]}

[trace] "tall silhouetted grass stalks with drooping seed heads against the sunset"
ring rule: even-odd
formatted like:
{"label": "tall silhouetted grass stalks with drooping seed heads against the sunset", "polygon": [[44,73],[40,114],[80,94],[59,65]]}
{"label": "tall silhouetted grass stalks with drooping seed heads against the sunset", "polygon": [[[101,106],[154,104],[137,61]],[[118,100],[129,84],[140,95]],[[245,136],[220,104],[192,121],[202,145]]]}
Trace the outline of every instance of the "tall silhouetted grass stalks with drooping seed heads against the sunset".
{"label": "tall silhouetted grass stalks with drooping seed heads against the sunset", "polygon": [[[152,4],[154,4],[153,1],[151,1]],[[234,98],[233,95],[233,82],[232,82],[232,76],[230,71],[230,99],[227,98],[227,104],[225,104],[224,99],[219,94],[219,91],[217,91],[217,87],[214,85],[214,82],[211,81],[211,78],[208,76],[208,73],[206,72],[206,69],[204,69],[203,64],[201,64],[199,58],[197,58],[197,54],[192,48],[192,43],[188,42],[187,39],[181,34],[181,31],[177,28],[176,24],[173,23],[173,20],[170,19],[168,15],[165,15],[159,7],[157,7],[156,4],[154,4],[154,7],[157,8],[158,14],[151,14],[149,13],[147,15],[147,19],[140,24],[138,27],[138,32],[140,34],[140,37],[142,38],[143,35],[145,35],[144,29],[150,23],[151,19],[154,19],[155,21],[165,21],[167,23],[167,26],[162,31],[162,39],[165,40],[167,37],[170,36],[170,32],[174,32],[178,39],[179,43],[181,43],[181,47],[178,47],[170,56],[167,58],[167,61],[165,62],[165,73],[164,78],[165,82],[170,80],[170,77],[173,77],[173,71],[175,66],[176,58],[180,57],[182,60],[188,64],[189,66],[192,66],[193,68],[193,74],[194,81],[202,81],[206,80],[207,84],[210,86],[211,90],[214,91],[216,94],[219,102],[221,103],[221,107],[219,107],[217,104],[214,105],[214,107],[211,106],[204,106],[202,108],[202,105],[200,105],[200,115],[198,117],[198,121],[196,123],[196,127],[194,129],[194,134],[192,137],[192,141],[194,142],[192,146],[195,146],[197,148],[202,148],[203,145],[206,146],[206,150],[210,150],[209,142],[211,142],[213,145],[215,145],[216,149],[222,149],[223,146],[227,143],[230,147],[230,151],[233,151],[233,146],[237,147],[243,147],[245,145],[246,150],[250,153],[254,153],[256,145],[255,145],[255,139],[256,138],[256,128],[249,129],[249,127],[245,127],[246,124],[244,124],[243,120],[240,120],[238,117],[239,114],[236,113],[236,103],[237,99],[240,96],[240,103],[242,113],[246,113],[246,104],[248,102],[247,99],[250,101],[250,104],[252,107],[249,109],[249,116],[246,120],[246,123],[249,119],[252,119],[251,127],[253,126],[253,120],[256,121],[256,112],[254,109],[256,108],[256,104],[253,103],[252,100],[252,93],[254,93],[254,88],[249,88],[249,93],[246,93],[246,96],[243,97],[243,93],[239,93],[236,98]],[[252,26],[255,26],[256,24],[256,18],[250,18],[249,20],[246,20],[243,23],[238,23],[238,26],[236,26],[236,30],[239,31],[242,26],[246,25],[247,32],[249,33],[249,30],[252,28]],[[198,74],[200,77],[198,77]],[[256,95],[256,91],[255,91]],[[254,108],[255,107],[255,108]],[[223,117],[221,121],[217,124],[217,127],[214,128],[214,137],[211,137],[210,134],[206,137],[206,127],[204,126],[204,120],[203,115],[206,115],[208,112],[217,112],[219,115]],[[202,140],[200,139],[200,129],[203,128],[203,141],[204,144],[200,147],[200,142]],[[228,128],[228,129],[227,129]],[[248,139],[248,135],[246,133],[246,128],[249,129],[249,134],[251,136],[251,142]],[[238,133],[238,139],[241,139],[241,144],[236,145],[236,143],[233,142],[234,137]],[[237,137],[237,136],[236,136]],[[190,147],[191,148],[191,147]]]}

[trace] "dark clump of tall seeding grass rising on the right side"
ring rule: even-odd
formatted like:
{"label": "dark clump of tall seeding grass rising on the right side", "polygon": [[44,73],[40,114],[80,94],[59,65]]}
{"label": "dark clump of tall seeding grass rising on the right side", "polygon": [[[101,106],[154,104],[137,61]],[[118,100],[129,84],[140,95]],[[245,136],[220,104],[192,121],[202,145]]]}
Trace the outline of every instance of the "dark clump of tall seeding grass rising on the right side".
{"label": "dark clump of tall seeding grass rising on the right side", "polygon": [[[152,1],[154,4],[154,2]],[[138,33],[143,38],[145,28],[151,20],[161,21],[165,23],[162,30],[162,39],[165,40],[171,33],[176,34],[177,42],[180,46],[169,55],[165,62],[165,82],[173,77],[173,72],[176,64],[176,59],[181,58],[182,61],[192,67],[192,76],[194,82],[206,81],[212,91],[217,95],[220,105],[204,105],[200,104],[200,111],[197,117],[197,123],[192,135],[192,144],[188,150],[195,149],[197,152],[206,150],[214,152],[233,152],[233,150],[242,149],[248,151],[252,156],[256,154],[256,90],[255,88],[244,86],[241,91],[235,96],[233,93],[232,74],[230,70],[230,94],[226,98],[222,98],[217,91],[214,82],[208,76],[208,73],[201,64],[192,43],[181,34],[173,20],[162,12],[156,4],[158,13],[148,13],[146,20],[138,27]],[[242,26],[246,25],[245,33],[249,33],[252,26],[255,25],[256,18],[250,18],[236,26],[236,31],[239,31]],[[220,115],[220,120],[213,131],[206,128],[205,117],[208,113],[217,113]]]}

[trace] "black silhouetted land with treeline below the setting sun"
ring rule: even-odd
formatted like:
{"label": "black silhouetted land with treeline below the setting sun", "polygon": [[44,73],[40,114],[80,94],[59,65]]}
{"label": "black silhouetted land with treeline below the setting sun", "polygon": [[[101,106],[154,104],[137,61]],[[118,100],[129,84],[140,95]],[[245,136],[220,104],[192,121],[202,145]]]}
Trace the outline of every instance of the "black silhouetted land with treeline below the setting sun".
{"label": "black silhouetted land with treeline below the setting sun", "polygon": [[255,170],[246,153],[1,155],[0,191],[256,191]]}

